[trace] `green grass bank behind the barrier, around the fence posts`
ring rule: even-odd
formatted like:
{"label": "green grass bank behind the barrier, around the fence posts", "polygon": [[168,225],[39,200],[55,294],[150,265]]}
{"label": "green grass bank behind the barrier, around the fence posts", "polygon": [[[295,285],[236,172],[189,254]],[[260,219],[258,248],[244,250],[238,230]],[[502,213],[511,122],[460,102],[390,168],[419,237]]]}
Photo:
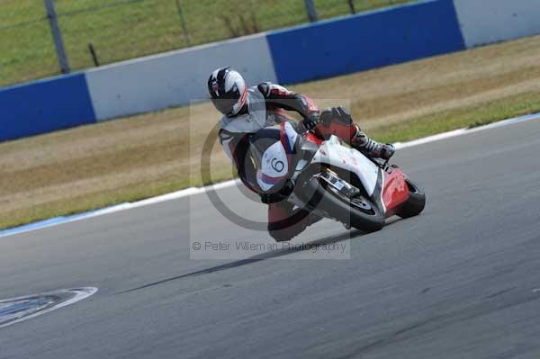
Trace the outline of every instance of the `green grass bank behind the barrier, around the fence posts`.
{"label": "green grass bank behind the barrier, around the fence posts", "polygon": [[[356,12],[410,0],[356,0]],[[308,22],[302,0],[56,0],[72,70]],[[180,4],[185,27],[182,27]],[[320,19],[350,13],[347,0],[315,0]],[[185,32],[184,32],[185,29]],[[43,2],[0,1],[0,86],[59,74]]]}

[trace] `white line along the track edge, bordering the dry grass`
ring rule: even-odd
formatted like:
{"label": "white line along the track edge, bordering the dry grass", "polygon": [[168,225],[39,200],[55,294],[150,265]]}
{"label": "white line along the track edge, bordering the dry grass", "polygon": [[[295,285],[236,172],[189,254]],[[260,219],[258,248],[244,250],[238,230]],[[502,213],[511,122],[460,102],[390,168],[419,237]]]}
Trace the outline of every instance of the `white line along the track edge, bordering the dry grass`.
{"label": "white line along the track edge, bordering the dry grass", "polygon": [[[450,139],[450,138],[453,138],[453,137],[456,137],[456,136],[463,136],[463,135],[473,133],[473,132],[478,132],[478,131],[481,131],[481,130],[491,130],[491,129],[495,129],[495,128],[498,128],[498,127],[509,126],[509,125],[512,125],[512,124],[525,122],[525,121],[533,121],[533,120],[537,120],[537,119],[540,119],[540,113],[535,113],[535,114],[531,114],[531,115],[527,115],[527,116],[521,116],[521,117],[517,117],[517,118],[509,119],[509,120],[504,120],[504,121],[493,122],[491,124],[476,127],[476,128],[470,129],[470,130],[467,130],[467,129],[452,130],[452,131],[449,131],[449,132],[444,132],[444,133],[439,133],[437,135],[428,136],[428,137],[425,137],[423,139],[415,139],[415,140],[412,140],[410,142],[397,142],[394,145],[398,149],[410,148],[410,147],[413,147],[413,146],[423,145],[423,144],[429,143],[429,142],[435,142],[435,141],[438,141],[438,140],[441,140],[441,139]],[[192,196],[192,195],[195,195],[195,194],[204,193],[209,189],[220,190],[220,189],[223,189],[223,188],[229,188],[229,187],[232,187],[232,186],[234,186],[234,185],[236,185],[238,183],[239,183],[239,180],[236,179],[236,180],[229,180],[229,181],[226,181],[226,182],[221,182],[220,184],[213,184],[213,185],[210,185],[210,186],[207,186],[207,187],[191,187],[191,188],[186,188],[186,189],[181,190],[181,191],[176,191],[176,192],[173,192],[173,193],[166,193],[166,194],[163,194],[163,195],[160,195],[160,196],[157,196],[157,197],[148,198],[146,200],[142,200],[142,201],[138,201],[138,202],[129,202],[129,203],[117,204],[117,205],[114,205],[112,207],[106,207],[106,208],[103,208],[103,209],[97,210],[97,211],[89,211],[89,212],[75,214],[73,216],[67,216],[67,217],[57,217],[57,218],[53,218],[53,219],[50,219],[50,220],[40,220],[39,222],[27,224],[27,225],[24,225],[24,226],[21,226],[21,227],[15,227],[13,229],[0,230],[0,238],[7,237],[7,236],[13,236],[15,234],[20,234],[20,233],[30,232],[32,230],[54,227],[54,226],[58,226],[58,225],[64,224],[64,223],[74,222],[76,220],[86,220],[86,219],[89,219],[89,218],[102,216],[104,214],[115,213],[115,212],[119,212],[119,211],[128,211],[128,210],[131,210],[131,209],[134,209],[134,208],[148,206],[150,204],[156,204],[156,203],[160,203],[160,202],[167,202],[167,201],[176,200],[176,199],[179,199],[179,198],[189,197],[189,196]]]}

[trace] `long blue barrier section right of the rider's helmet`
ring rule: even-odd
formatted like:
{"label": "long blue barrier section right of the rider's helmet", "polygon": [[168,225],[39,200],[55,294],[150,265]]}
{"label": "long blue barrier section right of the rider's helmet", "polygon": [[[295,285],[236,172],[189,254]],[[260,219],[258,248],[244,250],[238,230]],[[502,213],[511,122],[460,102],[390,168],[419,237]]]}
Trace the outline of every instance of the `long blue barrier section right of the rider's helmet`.
{"label": "long blue barrier section right of the rider's helmet", "polygon": [[465,49],[451,0],[318,22],[267,35],[278,81],[294,84]]}

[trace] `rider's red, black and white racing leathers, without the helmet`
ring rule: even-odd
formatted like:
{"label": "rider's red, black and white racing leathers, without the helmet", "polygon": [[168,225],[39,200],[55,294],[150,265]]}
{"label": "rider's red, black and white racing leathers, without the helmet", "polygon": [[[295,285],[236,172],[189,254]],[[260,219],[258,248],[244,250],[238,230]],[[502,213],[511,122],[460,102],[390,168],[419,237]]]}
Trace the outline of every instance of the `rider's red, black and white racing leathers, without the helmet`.
{"label": "rider's red, black and white racing leathers, without the helmet", "polygon": [[[220,121],[220,143],[232,159],[238,176],[256,193],[262,193],[255,178],[255,168],[247,159],[249,148],[247,134],[256,133],[269,126],[290,121],[286,111],[298,112],[303,120],[298,124],[311,130],[321,139],[336,135],[369,157],[389,158],[393,154],[391,145],[380,144],[369,139],[353,123],[347,110],[337,107],[319,112],[311,99],[296,94],[281,85],[263,83],[247,90],[247,103],[235,116],[223,116]],[[262,194],[261,200],[268,204],[268,232],[277,241],[290,240],[320,218],[293,208],[287,201],[279,201],[273,195]]]}

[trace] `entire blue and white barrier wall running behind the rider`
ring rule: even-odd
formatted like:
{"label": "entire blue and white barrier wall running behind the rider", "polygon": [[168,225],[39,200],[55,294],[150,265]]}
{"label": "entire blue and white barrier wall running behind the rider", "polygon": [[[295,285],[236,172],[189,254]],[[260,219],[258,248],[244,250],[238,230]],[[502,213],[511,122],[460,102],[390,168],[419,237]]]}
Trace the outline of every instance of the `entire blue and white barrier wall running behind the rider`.
{"label": "entire blue and white barrier wall running behind the rider", "polygon": [[538,0],[428,0],[0,89],[0,140],[206,97],[216,67],[292,84],[540,33]]}

